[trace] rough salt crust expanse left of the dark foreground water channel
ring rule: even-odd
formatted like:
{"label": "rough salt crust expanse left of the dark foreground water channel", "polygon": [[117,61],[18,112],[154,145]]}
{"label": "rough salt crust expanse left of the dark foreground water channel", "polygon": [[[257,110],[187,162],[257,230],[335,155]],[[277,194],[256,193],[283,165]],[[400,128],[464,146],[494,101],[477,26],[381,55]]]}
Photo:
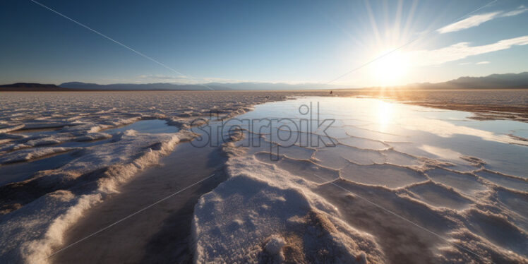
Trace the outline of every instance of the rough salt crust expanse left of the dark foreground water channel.
{"label": "rough salt crust expanse left of the dark foreground water channel", "polygon": [[[118,191],[139,169],[157,163],[180,140],[195,136],[188,131],[155,135],[125,131],[111,136],[105,129],[141,119],[164,119],[188,128],[193,116],[206,116],[210,109],[221,109],[220,117],[234,116],[247,112],[251,104],[284,98],[259,92],[3,93],[1,160],[30,161],[67,150],[63,143],[112,139],[81,145],[75,148],[79,150],[73,160],[59,169],[0,187],[6,191],[0,210],[4,214],[0,215],[0,263],[47,263],[47,255],[64,246],[66,229],[92,205]],[[7,133],[20,128],[33,130]],[[9,194],[13,191],[18,195]]]}

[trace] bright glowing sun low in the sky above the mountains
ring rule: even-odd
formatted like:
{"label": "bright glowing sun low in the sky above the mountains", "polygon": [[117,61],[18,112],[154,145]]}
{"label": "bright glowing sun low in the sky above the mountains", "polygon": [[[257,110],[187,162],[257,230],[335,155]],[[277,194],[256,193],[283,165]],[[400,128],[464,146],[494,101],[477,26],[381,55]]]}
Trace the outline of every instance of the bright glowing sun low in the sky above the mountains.
{"label": "bright glowing sun low in the sky above the mountains", "polygon": [[382,86],[398,85],[403,81],[409,61],[407,57],[394,49],[380,52],[380,59],[373,62],[371,74],[375,83]]}

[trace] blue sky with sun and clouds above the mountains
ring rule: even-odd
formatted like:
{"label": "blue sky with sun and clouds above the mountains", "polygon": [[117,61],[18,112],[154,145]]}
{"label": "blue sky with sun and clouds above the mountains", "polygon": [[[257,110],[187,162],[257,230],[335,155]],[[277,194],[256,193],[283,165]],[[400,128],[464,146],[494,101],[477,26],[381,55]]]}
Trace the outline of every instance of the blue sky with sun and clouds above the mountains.
{"label": "blue sky with sun and clouds above the mountains", "polygon": [[0,83],[362,87],[528,71],[528,1],[35,1],[184,76],[30,0],[6,0]]}

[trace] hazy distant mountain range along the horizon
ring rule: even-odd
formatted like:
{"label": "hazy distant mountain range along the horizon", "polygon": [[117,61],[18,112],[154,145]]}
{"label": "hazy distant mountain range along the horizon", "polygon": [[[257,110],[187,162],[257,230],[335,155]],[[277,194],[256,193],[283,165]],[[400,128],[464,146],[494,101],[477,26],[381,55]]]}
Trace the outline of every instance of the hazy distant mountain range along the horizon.
{"label": "hazy distant mountain range along the horizon", "polygon": [[[445,83],[414,83],[393,87],[395,89],[528,89],[528,72],[492,74],[484,77],[460,77]],[[100,85],[97,83],[13,83],[0,85],[0,91],[78,91],[78,90],[325,90],[340,89],[336,85],[314,83],[116,83]],[[379,89],[379,88],[364,88]]]}

